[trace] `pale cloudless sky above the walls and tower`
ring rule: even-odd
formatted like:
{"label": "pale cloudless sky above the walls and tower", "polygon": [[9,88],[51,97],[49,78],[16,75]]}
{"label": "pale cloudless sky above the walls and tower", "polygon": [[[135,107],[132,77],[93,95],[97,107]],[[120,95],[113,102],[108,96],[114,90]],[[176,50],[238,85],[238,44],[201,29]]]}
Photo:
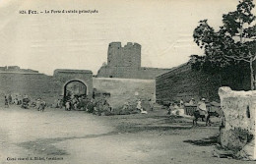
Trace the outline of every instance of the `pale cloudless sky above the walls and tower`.
{"label": "pale cloudless sky above the walls and tower", "polygon": [[[92,70],[106,62],[110,42],[142,45],[142,66],[172,68],[203,55],[193,42],[200,20],[212,27],[237,0],[0,0],[0,67],[52,75],[55,69]],[[19,14],[35,10],[38,14]],[[96,14],[45,14],[96,10]],[[40,13],[42,12],[42,13]]]}

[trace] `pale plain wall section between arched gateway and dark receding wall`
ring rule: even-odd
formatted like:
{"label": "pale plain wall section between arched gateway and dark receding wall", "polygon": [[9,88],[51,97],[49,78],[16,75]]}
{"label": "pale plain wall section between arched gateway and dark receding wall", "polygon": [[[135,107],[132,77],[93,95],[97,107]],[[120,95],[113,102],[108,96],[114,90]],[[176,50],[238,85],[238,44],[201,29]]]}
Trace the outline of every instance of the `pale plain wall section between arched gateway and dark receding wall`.
{"label": "pale plain wall section between arched gateway and dark receding wall", "polygon": [[99,91],[110,93],[109,104],[113,108],[120,108],[125,102],[136,102],[152,99],[155,101],[154,80],[131,80],[131,79],[110,79],[94,78],[94,87]]}

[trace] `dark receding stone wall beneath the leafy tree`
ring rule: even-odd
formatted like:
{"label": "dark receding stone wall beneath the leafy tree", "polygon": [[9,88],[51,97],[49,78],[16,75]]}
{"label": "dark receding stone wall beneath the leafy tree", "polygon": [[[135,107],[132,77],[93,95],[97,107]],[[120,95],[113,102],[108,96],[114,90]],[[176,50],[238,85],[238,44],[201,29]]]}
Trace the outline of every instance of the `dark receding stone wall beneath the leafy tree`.
{"label": "dark receding stone wall beneath the leafy tree", "polygon": [[[206,74],[195,71],[190,63],[185,63],[156,78],[156,96],[158,103],[177,101],[181,98],[189,101],[192,97],[199,100],[202,97],[210,101],[220,101],[218,89],[230,86],[232,89],[249,89],[249,74],[237,77],[226,71],[221,74]],[[247,76],[247,77],[246,77]]]}

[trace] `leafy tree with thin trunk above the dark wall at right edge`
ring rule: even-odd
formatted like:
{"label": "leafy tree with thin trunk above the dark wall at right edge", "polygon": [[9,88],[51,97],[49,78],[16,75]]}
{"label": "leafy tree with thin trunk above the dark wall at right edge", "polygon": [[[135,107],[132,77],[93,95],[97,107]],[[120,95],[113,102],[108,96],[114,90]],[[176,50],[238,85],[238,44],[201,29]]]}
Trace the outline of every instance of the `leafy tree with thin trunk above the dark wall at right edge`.
{"label": "leafy tree with thin trunk above the dark wall at right edge", "polygon": [[193,58],[212,67],[225,68],[247,63],[251,89],[255,88],[253,62],[256,60],[256,17],[252,14],[253,0],[242,0],[236,11],[223,15],[223,26],[216,31],[207,20],[194,29],[194,41],[205,50],[205,56]]}

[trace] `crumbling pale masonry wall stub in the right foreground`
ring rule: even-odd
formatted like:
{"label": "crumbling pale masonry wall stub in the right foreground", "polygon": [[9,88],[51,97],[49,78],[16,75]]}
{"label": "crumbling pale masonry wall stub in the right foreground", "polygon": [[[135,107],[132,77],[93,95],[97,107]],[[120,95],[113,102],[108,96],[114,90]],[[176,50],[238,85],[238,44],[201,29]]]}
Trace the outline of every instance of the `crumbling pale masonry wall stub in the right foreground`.
{"label": "crumbling pale masonry wall stub in the right foreground", "polygon": [[233,91],[221,87],[219,95],[224,111],[222,146],[234,151],[239,158],[256,160],[256,91]]}

